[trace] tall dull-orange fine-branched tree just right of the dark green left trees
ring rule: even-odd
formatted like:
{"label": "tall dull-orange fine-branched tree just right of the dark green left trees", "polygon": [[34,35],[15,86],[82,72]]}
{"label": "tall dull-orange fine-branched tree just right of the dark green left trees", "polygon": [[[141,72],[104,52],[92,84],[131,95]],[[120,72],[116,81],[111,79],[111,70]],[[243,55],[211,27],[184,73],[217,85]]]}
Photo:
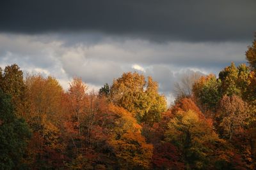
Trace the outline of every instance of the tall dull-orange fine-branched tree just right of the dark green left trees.
{"label": "tall dull-orange fine-branched tree just right of the dark green left trees", "polygon": [[[26,78],[26,115],[24,118],[30,125],[33,142],[40,140],[40,145],[33,147],[28,153],[36,157],[31,162],[34,167],[63,166],[60,155],[63,153],[61,129],[63,129],[64,91],[55,78],[44,78],[40,75],[27,76]],[[32,140],[31,139],[31,140]],[[31,141],[32,142],[32,141]],[[38,152],[40,150],[40,152]],[[50,157],[49,155],[55,155]],[[57,163],[58,162],[58,163]],[[32,166],[32,165],[31,165]]]}

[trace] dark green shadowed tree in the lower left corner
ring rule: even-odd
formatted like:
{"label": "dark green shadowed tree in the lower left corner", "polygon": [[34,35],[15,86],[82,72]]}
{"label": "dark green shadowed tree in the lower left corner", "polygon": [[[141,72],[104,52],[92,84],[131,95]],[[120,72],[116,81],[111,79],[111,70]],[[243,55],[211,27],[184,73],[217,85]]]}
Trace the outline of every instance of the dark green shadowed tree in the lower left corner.
{"label": "dark green shadowed tree in the lower left corner", "polygon": [[15,115],[11,97],[0,89],[0,169],[22,168],[30,136],[26,122]]}

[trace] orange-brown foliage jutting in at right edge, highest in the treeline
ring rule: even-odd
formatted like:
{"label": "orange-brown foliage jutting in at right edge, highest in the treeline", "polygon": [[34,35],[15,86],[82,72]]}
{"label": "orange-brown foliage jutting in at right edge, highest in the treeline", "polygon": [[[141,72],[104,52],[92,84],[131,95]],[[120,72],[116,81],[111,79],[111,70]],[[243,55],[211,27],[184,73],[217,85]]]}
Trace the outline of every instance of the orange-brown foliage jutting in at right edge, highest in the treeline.
{"label": "orange-brown foliage jutting in at right edge, highest in the treeline", "polygon": [[[256,34],[255,34],[256,38]],[[246,59],[250,64],[252,70],[256,69],[256,39],[253,40],[252,45],[248,46],[248,50],[245,52]]]}

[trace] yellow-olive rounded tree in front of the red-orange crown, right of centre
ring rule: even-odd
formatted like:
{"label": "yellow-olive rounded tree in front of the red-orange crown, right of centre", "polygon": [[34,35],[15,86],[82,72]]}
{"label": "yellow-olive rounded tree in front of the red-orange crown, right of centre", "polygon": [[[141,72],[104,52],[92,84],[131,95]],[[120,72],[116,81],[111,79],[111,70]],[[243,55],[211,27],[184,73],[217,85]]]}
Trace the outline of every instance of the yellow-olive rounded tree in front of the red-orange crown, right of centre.
{"label": "yellow-olive rounded tree in front of the red-orange crown, right of centre", "polygon": [[213,148],[220,139],[213,131],[211,120],[200,118],[195,111],[178,111],[169,123],[166,141],[179,148],[190,168],[210,166]]}

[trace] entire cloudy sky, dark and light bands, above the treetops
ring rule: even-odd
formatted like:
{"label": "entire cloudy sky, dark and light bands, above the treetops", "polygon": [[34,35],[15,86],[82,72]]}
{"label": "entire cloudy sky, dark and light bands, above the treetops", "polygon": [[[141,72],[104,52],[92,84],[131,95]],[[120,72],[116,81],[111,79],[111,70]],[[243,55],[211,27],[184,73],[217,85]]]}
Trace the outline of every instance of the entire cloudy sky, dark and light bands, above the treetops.
{"label": "entire cloudy sky, dark and light bands, above the treetops", "polygon": [[182,75],[246,62],[255,8],[255,0],[3,0],[0,66],[54,76],[65,89],[73,76],[98,89],[138,71],[172,101]]}

